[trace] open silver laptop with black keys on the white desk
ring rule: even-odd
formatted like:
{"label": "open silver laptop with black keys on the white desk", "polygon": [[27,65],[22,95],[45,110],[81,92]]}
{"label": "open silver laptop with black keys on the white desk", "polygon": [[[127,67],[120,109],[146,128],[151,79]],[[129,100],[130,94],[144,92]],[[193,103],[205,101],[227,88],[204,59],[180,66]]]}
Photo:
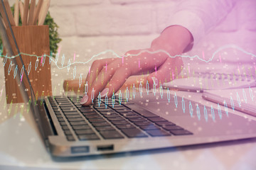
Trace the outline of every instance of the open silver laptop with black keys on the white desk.
{"label": "open silver laptop with black keys on the white desk", "polygon": [[[16,42],[14,35],[12,38]],[[7,47],[11,55],[10,45]],[[18,51],[17,45],[16,48]],[[24,74],[23,81],[29,82],[26,70]],[[21,82],[19,77],[16,81]],[[28,87],[29,98],[23,81],[19,86],[23,101],[30,99],[35,103],[32,87]],[[224,108],[218,110],[188,100],[174,91],[145,93],[132,101],[118,97],[97,99],[87,107],[80,105],[80,98],[43,97],[31,105],[42,139],[53,157],[114,154],[256,137],[255,120],[233,113],[225,115]],[[223,111],[221,116],[220,111]]]}

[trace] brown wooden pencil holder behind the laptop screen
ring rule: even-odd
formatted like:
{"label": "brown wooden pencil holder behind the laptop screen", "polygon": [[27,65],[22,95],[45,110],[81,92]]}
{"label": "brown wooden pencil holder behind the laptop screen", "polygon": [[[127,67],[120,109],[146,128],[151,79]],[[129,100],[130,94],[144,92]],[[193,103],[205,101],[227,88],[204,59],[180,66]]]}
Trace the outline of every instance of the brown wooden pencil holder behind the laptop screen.
{"label": "brown wooden pencil holder behind the laptop screen", "polygon": [[[33,91],[38,96],[51,96],[52,85],[50,76],[50,40],[48,26],[14,26],[12,27],[14,36],[18,44],[18,49],[21,52],[21,57],[24,65],[18,57],[18,51],[11,35],[11,30],[7,29],[7,35],[11,43],[11,48],[16,55],[18,68],[22,73],[22,67],[29,73],[28,77],[31,81]],[[46,57],[43,57],[46,55]],[[10,57],[10,56],[9,56]],[[23,98],[18,89],[18,84],[14,79],[16,65],[11,65],[11,60],[7,59],[4,64],[4,76],[6,86],[6,101],[7,103],[23,103]],[[10,69],[11,67],[11,69]],[[23,74],[22,81],[30,95],[30,88],[25,75]]]}

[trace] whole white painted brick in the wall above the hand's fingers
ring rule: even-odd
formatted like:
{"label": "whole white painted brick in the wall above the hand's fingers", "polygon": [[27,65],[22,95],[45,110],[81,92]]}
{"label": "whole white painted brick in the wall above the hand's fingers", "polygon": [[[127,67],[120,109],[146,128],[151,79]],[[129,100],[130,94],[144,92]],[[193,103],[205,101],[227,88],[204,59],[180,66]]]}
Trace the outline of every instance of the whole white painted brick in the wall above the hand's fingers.
{"label": "whole white painted brick in the wall above the hand's fingers", "polygon": [[142,35],[152,29],[151,6],[80,7],[75,10],[78,35]]}

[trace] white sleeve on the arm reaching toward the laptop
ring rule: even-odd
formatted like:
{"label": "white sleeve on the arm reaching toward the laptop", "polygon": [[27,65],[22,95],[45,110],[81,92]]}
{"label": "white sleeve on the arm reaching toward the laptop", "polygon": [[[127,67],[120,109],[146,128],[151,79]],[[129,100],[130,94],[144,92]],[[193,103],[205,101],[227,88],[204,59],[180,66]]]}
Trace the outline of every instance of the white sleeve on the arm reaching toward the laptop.
{"label": "white sleeve on the arm reaching toward the laptop", "polygon": [[236,0],[184,0],[171,16],[169,24],[187,28],[197,43],[231,11]]}

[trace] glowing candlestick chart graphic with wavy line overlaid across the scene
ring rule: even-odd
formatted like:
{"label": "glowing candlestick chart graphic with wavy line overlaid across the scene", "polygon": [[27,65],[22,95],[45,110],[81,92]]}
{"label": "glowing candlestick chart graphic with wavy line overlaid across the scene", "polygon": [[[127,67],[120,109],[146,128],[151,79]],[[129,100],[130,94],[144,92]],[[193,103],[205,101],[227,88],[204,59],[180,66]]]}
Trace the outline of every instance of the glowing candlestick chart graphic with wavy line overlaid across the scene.
{"label": "glowing candlestick chart graphic with wavy line overlaid across the scene", "polygon": [[[243,50],[241,47],[238,47],[237,45],[224,45],[223,47],[218,48],[218,50],[215,50],[215,52],[213,52],[213,55],[210,57],[209,60],[205,60],[205,57],[200,57],[199,55],[194,55],[194,56],[175,55],[175,56],[171,56],[168,52],[166,52],[164,50],[157,50],[157,51],[154,51],[154,52],[151,52],[149,50],[144,50],[144,51],[141,51],[141,52],[139,52],[138,54],[135,54],[135,55],[122,55],[122,56],[117,55],[117,53],[114,52],[113,50],[105,50],[103,52],[98,53],[97,55],[93,55],[92,57],[90,57],[90,59],[88,59],[85,62],[77,61],[75,59],[76,54],[74,54],[73,61],[69,59],[68,63],[65,63],[65,55],[60,56],[60,52],[58,52],[58,54],[56,54],[55,58],[53,58],[52,54],[37,56],[37,55],[30,55],[30,54],[21,53],[19,55],[23,55],[23,56],[27,56],[27,57],[36,57],[36,59],[37,59],[36,63],[31,63],[30,62],[28,64],[28,68],[27,68],[28,75],[30,74],[31,69],[37,70],[38,69],[38,64],[40,64],[43,67],[44,64],[46,64],[46,62],[48,62],[49,64],[55,64],[55,66],[60,70],[66,69],[67,72],[70,72],[70,68],[73,67],[73,79],[78,77],[78,79],[79,79],[78,85],[79,85],[80,88],[82,86],[85,87],[84,88],[85,89],[84,94],[86,95],[88,93],[94,94],[95,91],[94,91],[94,89],[92,89],[92,91],[88,91],[89,84],[87,82],[85,82],[85,84],[82,84],[82,79],[85,79],[85,77],[82,77],[82,74],[80,74],[80,75],[77,74],[78,70],[77,70],[76,66],[78,66],[78,64],[87,64],[87,63],[91,62],[92,60],[97,60],[98,57],[101,57],[101,56],[104,56],[104,55],[107,55],[107,54],[111,54],[114,57],[122,58],[122,62],[123,62],[125,57],[138,56],[138,55],[141,55],[142,52],[148,52],[149,54],[157,54],[159,52],[164,52],[164,54],[168,55],[171,58],[182,57],[182,58],[200,60],[201,62],[208,63],[208,62],[213,61],[214,58],[218,58],[220,62],[223,62],[219,53],[222,52],[222,51],[225,51],[227,49],[235,49],[235,50],[238,50],[238,51],[242,52],[245,55],[249,55],[251,57],[256,58],[256,55],[252,54],[251,52],[247,52],[246,50]],[[4,60],[3,64],[5,66],[6,61],[8,59],[18,57],[18,55],[16,55],[16,56],[1,55],[1,57],[3,57],[3,60]],[[138,67],[140,67],[140,62],[138,63]],[[22,81],[24,69],[26,69],[25,66],[23,66],[21,68],[21,74],[20,75],[17,75],[18,65],[14,65],[11,62],[9,64],[8,68],[9,68],[8,69],[9,73],[11,72],[11,69],[14,70],[14,75],[13,75],[14,79],[15,79],[16,76],[20,76],[21,81]],[[178,77],[177,69],[179,69],[179,68],[176,67],[176,72],[171,72],[170,73],[170,77],[173,80]],[[191,79],[194,78],[195,71],[191,70],[189,65],[187,67],[183,67],[181,69],[183,69],[183,72],[187,73],[186,77],[188,77],[188,78],[191,77]],[[253,69],[255,69],[255,70],[253,70]],[[230,81],[231,81],[232,78],[237,79],[237,76],[238,76],[238,79],[239,79],[239,77],[240,77],[240,79],[242,79],[243,77],[250,77],[251,79],[255,79],[255,75],[254,75],[254,74],[256,74],[256,66],[255,65],[253,66],[253,69],[250,67],[246,70],[246,68],[244,66],[242,66],[242,67],[238,66],[237,74],[233,73],[233,75],[230,74],[228,76],[230,78]],[[106,70],[107,70],[107,64],[106,64]],[[155,71],[156,71],[156,68],[155,68]],[[88,72],[90,72],[90,68],[89,68]],[[182,78],[184,77],[183,73],[181,73],[181,77]],[[225,79],[225,77],[223,77],[222,79]],[[174,95],[171,95],[170,89],[165,88],[162,85],[162,83],[159,82],[159,84],[153,84],[153,86],[151,87],[151,86],[149,86],[149,81],[146,81],[146,83],[143,83],[141,81],[137,84],[134,83],[131,86],[127,86],[127,88],[124,91],[119,90],[119,91],[116,91],[115,93],[110,92],[110,93],[112,93],[112,98],[111,99],[107,98],[107,96],[102,97],[101,94],[99,94],[98,96],[91,95],[92,96],[92,102],[96,100],[98,105],[105,105],[106,108],[107,108],[107,105],[111,104],[112,107],[114,107],[115,104],[122,104],[122,102],[124,102],[124,103],[128,102],[129,100],[131,100],[133,98],[136,98],[138,96],[149,95],[149,93],[151,92],[151,93],[154,94],[154,96],[159,94],[161,99],[166,100],[166,102],[168,102],[168,103],[174,103],[175,108],[181,107],[182,110],[183,110],[183,113],[189,113],[191,115],[191,117],[196,116],[198,118],[198,120],[201,120],[202,119],[201,115],[204,115],[204,119],[206,121],[208,121],[208,110],[206,109],[206,106],[204,106],[203,110],[200,110],[198,105],[194,106],[194,105],[191,104],[191,102],[185,102],[184,98],[181,98],[181,102],[178,102],[178,100],[177,100],[178,97],[177,97],[176,93],[174,93]],[[61,84],[63,84],[63,80],[62,80]],[[156,89],[156,86],[158,86],[159,88]],[[66,89],[68,89],[68,85],[67,85]],[[2,98],[4,96],[3,95],[3,90],[4,90],[4,85],[1,87],[0,101],[2,100]],[[61,87],[60,87],[60,92],[61,91],[63,91],[63,89],[61,89]],[[156,93],[156,91],[158,91],[158,93]],[[249,91],[250,96],[245,96],[245,95],[239,96],[239,95],[237,95],[236,100],[234,100],[234,98],[232,98],[230,96],[229,101],[223,101],[222,103],[218,103],[218,111],[217,111],[218,113],[216,113],[216,111],[213,109],[213,107],[211,107],[210,108],[210,115],[211,115],[211,118],[213,119],[213,121],[215,121],[215,118],[216,118],[215,114],[218,114],[218,117],[220,119],[223,118],[223,113],[222,113],[223,109],[220,108],[221,106],[224,107],[225,115],[228,115],[228,105],[230,105],[233,108],[233,111],[234,111],[235,110],[234,102],[238,102],[239,106],[241,106],[242,101],[246,102],[247,100],[252,100],[252,101],[254,100],[255,96],[252,93],[252,89],[251,89],[250,86],[249,86],[249,89],[243,89],[243,91]],[[65,94],[67,95],[67,93],[65,93]],[[57,95],[57,86],[55,86],[54,89],[53,89],[53,96],[56,96],[56,95]],[[36,97],[38,97],[38,96],[43,97],[43,96],[45,96],[45,94],[36,93]],[[72,98],[74,100],[75,99],[80,100],[79,94],[75,95],[74,91],[72,91],[72,96],[73,96]],[[124,100],[122,100],[122,98]],[[241,98],[243,99],[242,101],[241,101]],[[118,99],[118,102],[116,101],[116,99]],[[101,101],[104,101],[104,102],[101,102]],[[28,101],[27,104],[29,106],[33,103],[31,103],[31,101]],[[4,103],[4,108],[7,108],[6,102]],[[19,107],[19,108],[23,109],[24,107]],[[16,104],[15,108],[13,108],[13,103],[9,104],[9,112],[11,112],[12,109],[14,109],[15,112],[17,112],[18,105]],[[27,112],[28,111],[29,111],[29,107],[27,107]],[[23,110],[22,110],[22,113],[23,113]]]}

